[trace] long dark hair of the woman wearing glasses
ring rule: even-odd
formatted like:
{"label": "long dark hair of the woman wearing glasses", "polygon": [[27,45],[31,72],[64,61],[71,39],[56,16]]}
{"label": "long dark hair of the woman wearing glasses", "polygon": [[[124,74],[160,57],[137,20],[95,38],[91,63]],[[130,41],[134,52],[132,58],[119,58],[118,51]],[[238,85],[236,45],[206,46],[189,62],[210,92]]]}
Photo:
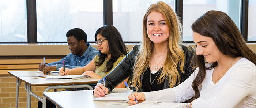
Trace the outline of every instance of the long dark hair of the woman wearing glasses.
{"label": "long dark hair of the woman wearing glasses", "polygon": [[[126,55],[128,52],[128,48],[125,46],[121,34],[113,25],[105,25],[99,28],[94,37],[95,41],[97,41],[97,35],[101,34],[103,37],[108,39],[109,53],[111,54],[110,60],[106,63],[106,69],[103,72],[108,72],[113,68],[113,63],[121,55]],[[107,58],[107,54],[101,53],[99,51],[99,61],[95,61],[96,66],[101,66],[105,59]]]}

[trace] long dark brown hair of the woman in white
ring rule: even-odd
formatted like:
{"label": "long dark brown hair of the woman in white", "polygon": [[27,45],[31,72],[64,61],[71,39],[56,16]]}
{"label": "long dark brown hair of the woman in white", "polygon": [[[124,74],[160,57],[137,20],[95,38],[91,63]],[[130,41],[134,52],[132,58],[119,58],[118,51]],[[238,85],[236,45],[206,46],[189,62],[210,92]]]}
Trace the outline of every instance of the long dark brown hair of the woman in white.
{"label": "long dark brown hair of the woman in white", "polygon": [[[219,51],[223,55],[232,58],[245,57],[256,65],[256,55],[246,45],[244,38],[231,18],[221,11],[208,11],[200,16],[191,26],[193,32],[202,36],[211,37]],[[195,55],[196,67],[199,72],[192,82],[192,88],[195,91],[195,97],[199,98],[200,92],[198,86],[203,82],[206,70],[210,70],[218,65],[218,62],[212,63],[210,67],[205,67],[203,55]]]}

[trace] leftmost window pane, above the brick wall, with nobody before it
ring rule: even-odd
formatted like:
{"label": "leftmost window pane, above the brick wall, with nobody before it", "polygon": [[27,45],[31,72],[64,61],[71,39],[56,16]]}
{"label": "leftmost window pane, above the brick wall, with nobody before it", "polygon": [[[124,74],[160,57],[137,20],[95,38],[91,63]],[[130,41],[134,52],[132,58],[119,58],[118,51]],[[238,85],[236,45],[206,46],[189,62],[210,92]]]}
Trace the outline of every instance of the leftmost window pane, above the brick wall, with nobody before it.
{"label": "leftmost window pane, above the brick wall, with nobody before it", "polygon": [[0,42],[27,42],[26,0],[1,0]]}

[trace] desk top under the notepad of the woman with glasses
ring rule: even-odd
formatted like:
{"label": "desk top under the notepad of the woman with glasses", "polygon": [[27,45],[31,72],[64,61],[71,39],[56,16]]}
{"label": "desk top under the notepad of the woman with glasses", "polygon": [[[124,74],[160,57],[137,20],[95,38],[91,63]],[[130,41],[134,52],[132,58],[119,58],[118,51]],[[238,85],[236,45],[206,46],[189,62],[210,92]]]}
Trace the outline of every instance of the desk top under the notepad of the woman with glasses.
{"label": "desk top under the notepad of the woman with glasses", "polygon": [[99,79],[96,79],[96,78],[82,78],[82,79],[76,79],[76,80],[47,80],[46,78],[19,77],[18,79],[31,85],[31,86],[93,84],[93,83],[97,83],[99,81]]}

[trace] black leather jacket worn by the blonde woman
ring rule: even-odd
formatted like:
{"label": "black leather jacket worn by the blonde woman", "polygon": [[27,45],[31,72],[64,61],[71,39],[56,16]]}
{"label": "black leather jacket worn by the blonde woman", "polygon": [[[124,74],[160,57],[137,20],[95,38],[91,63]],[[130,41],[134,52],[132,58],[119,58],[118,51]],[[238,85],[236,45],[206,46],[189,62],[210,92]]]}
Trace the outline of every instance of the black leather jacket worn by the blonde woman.
{"label": "black leather jacket worn by the blonde woman", "polygon": [[[133,65],[135,63],[135,57],[138,53],[139,45],[135,45],[125,57],[124,59],[114,68],[108,75],[105,76],[106,81],[106,87],[110,90],[113,90],[118,84],[123,82],[125,79],[127,79],[130,76],[130,79],[132,81],[132,75],[133,75]],[[193,58],[193,54],[195,53],[195,50],[191,46],[182,45],[182,49],[185,53],[185,65],[183,70],[185,71],[185,74],[183,74],[180,71],[180,66],[178,66],[178,72],[180,74],[180,83],[182,83],[185,79],[187,79],[193,72],[192,67],[190,66],[191,60]],[[141,82],[142,82],[141,78]],[[103,78],[99,80],[98,83],[103,84]],[[178,85],[178,82],[175,86]],[[165,79],[163,88],[170,88],[168,79]],[[133,91],[136,91],[134,87],[132,87]],[[145,90],[140,87],[140,89],[137,92],[144,92]]]}

